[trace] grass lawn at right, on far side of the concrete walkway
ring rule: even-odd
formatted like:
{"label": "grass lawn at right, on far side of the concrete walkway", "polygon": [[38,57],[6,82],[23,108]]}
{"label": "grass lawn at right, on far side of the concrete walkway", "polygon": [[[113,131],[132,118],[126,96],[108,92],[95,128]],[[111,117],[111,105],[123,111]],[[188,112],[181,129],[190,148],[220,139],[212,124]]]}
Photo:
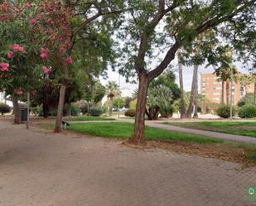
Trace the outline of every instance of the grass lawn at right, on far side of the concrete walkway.
{"label": "grass lawn at right, on far side of the concrete walkway", "polygon": [[256,122],[163,122],[163,124],[256,137]]}

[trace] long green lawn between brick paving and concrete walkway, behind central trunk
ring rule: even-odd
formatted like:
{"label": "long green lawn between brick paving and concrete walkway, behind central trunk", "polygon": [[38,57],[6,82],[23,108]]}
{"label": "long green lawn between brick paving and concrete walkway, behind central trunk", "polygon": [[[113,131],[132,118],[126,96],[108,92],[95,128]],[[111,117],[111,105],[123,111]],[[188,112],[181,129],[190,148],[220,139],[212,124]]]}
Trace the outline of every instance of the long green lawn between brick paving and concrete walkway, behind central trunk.
{"label": "long green lawn between brick paving and concrete walkway, behind central trunk", "polygon": [[[231,122],[232,123],[232,122]],[[53,129],[53,125],[46,124],[44,127]],[[68,130],[85,133],[95,137],[106,137],[113,139],[126,140],[133,135],[133,123],[129,122],[87,122],[87,123],[70,123]],[[225,141],[217,138],[202,137],[182,132],[170,132],[158,128],[146,127],[147,141],[176,141],[186,143],[199,143],[215,146],[229,146],[230,148],[244,149],[244,158],[256,162],[256,145],[239,143],[235,141]]]}

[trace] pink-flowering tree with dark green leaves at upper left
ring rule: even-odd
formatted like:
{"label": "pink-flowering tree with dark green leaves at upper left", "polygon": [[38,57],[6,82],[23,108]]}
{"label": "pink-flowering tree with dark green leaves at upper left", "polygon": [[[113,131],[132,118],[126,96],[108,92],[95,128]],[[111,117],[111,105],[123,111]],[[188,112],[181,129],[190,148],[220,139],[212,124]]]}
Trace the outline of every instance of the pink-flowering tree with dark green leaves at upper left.
{"label": "pink-flowering tree with dark green leaves at upper left", "polygon": [[0,32],[4,36],[0,43],[0,89],[12,95],[17,123],[20,119],[18,97],[31,91],[33,85],[51,75],[53,69],[60,74],[60,82],[68,81],[65,76],[73,62],[68,55],[69,16],[70,10],[53,0],[39,4],[4,1],[0,5]]}

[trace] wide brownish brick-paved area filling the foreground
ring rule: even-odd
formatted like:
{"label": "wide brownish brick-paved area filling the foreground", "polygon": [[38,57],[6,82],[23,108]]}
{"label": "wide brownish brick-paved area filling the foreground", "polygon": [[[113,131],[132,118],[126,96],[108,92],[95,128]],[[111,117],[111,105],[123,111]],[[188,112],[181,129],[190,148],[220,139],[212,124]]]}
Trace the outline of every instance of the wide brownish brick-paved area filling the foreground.
{"label": "wide brownish brick-paved area filling the foreground", "polygon": [[0,206],[256,205],[256,168],[0,121]]}

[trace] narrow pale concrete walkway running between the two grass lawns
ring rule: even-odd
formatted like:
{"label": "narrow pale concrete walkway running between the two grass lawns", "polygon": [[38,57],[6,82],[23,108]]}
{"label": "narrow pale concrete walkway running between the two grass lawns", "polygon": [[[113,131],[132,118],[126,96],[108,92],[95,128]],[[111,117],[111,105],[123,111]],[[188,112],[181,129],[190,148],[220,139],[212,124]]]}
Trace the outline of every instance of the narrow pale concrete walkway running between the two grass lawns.
{"label": "narrow pale concrete walkway running between the two grass lawns", "polygon": [[[120,118],[118,119],[118,121],[134,122],[133,119],[125,119],[125,118]],[[225,134],[221,132],[210,132],[210,131],[203,131],[203,130],[197,130],[197,129],[191,129],[191,128],[176,127],[172,125],[161,124],[160,121],[146,121],[146,125],[149,127],[155,127],[159,129],[172,131],[172,132],[186,132],[186,133],[191,133],[196,135],[202,135],[205,137],[214,137],[214,138],[224,139],[227,141],[239,141],[244,143],[256,144],[256,137],[246,137],[246,136],[240,136],[240,135]]]}

